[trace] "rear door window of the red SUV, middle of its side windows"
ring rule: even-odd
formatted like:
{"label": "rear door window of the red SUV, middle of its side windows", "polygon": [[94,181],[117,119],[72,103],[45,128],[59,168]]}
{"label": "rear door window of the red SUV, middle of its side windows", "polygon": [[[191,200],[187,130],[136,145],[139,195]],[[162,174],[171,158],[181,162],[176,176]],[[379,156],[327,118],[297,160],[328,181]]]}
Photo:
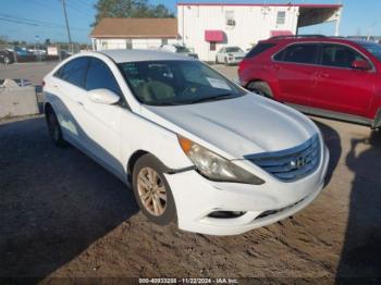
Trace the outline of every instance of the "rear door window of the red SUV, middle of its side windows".
{"label": "rear door window of the red SUV, middle of its side windows", "polygon": [[[287,47],[282,55],[284,62],[314,64],[317,62],[319,52],[318,44],[297,44]],[[276,60],[276,55],[274,58]]]}

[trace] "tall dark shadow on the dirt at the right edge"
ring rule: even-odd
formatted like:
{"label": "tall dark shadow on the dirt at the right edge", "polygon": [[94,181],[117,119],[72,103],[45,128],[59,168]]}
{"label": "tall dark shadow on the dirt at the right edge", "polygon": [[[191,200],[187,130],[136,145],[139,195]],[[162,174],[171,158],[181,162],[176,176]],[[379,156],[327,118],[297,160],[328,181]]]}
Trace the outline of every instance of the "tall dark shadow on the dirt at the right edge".
{"label": "tall dark shadow on the dirt at the right edge", "polygon": [[353,138],[346,165],[355,177],[336,283],[367,277],[376,284],[381,280],[381,132]]}

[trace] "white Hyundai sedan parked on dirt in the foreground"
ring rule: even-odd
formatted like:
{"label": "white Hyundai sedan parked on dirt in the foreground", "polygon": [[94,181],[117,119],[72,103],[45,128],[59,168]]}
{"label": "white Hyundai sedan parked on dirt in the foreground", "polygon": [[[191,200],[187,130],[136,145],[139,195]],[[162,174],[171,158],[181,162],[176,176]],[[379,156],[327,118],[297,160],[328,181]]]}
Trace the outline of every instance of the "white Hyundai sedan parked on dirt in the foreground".
{"label": "white Hyundai sedan parked on dirt in the foreground", "polygon": [[294,214],[323,188],[318,127],[193,58],[84,52],[50,72],[44,92],[53,142],[132,186],[157,224],[239,234]]}

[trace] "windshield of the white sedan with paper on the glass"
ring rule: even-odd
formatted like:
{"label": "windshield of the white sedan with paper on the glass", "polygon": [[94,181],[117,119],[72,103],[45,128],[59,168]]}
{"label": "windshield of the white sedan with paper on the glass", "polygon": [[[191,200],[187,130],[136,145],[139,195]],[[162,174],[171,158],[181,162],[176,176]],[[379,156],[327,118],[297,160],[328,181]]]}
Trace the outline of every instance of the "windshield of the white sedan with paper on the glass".
{"label": "windshield of the white sedan with paper on the glass", "polygon": [[145,104],[189,104],[246,94],[199,61],[140,61],[119,65],[135,97]]}

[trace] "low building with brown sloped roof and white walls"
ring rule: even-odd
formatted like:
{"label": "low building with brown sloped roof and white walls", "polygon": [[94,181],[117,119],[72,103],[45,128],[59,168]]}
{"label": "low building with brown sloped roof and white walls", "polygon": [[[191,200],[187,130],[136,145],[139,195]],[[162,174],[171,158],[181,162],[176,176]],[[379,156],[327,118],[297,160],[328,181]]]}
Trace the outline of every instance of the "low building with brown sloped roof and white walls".
{"label": "low building with brown sloped roof and white walls", "polygon": [[105,17],[93,29],[93,50],[156,49],[177,42],[176,18]]}

